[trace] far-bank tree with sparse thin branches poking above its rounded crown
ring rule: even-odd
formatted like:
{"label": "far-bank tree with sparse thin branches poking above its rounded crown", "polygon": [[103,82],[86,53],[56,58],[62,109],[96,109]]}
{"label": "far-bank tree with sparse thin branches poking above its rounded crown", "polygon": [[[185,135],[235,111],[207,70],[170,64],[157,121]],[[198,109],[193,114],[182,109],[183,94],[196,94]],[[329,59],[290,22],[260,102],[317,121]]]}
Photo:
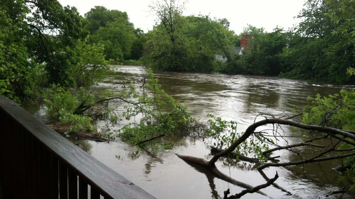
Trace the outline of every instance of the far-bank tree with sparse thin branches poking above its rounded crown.
{"label": "far-bank tree with sparse thin branches poking above its rounded crown", "polygon": [[159,21],[147,34],[142,61],[159,70],[211,72],[216,53],[231,57],[229,22],[209,16],[185,17],[182,7],[173,0],[151,5]]}

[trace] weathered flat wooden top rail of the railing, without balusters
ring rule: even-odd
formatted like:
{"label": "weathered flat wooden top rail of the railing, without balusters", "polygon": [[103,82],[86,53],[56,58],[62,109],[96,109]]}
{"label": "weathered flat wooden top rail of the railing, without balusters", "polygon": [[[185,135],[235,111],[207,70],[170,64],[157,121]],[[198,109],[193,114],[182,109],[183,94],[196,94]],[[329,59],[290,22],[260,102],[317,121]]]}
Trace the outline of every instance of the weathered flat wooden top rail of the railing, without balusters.
{"label": "weathered flat wooden top rail of the railing, without balusters", "polygon": [[51,153],[97,188],[105,198],[154,198],[66,138],[37,120],[12,100],[0,95],[0,111],[32,133]]}

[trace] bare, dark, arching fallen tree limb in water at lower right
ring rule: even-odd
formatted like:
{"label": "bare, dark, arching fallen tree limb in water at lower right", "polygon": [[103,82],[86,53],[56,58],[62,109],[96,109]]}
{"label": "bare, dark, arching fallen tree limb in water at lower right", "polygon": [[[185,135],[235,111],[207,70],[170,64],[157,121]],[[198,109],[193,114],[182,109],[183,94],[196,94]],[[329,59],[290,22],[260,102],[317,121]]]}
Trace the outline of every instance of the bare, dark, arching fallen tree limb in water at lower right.
{"label": "bare, dark, arching fallen tree limb in water at lower right", "polygon": [[[298,115],[300,115],[300,114],[297,114],[295,116],[298,116]],[[270,115],[268,115],[268,116],[270,116]],[[221,158],[223,156],[238,157],[239,160],[247,161],[247,162],[254,163],[254,164],[259,164],[260,166],[258,166],[257,169],[259,171],[261,171],[262,169],[269,167],[269,166],[284,167],[284,166],[300,165],[300,164],[307,164],[307,163],[315,164],[315,163],[319,163],[321,161],[342,159],[342,158],[351,157],[351,156],[355,155],[355,153],[351,153],[351,151],[355,149],[355,142],[352,141],[352,140],[355,140],[354,132],[344,131],[341,129],[335,129],[335,128],[321,126],[321,125],[302,124],[297,121],[291,120],[295,116],[288,116],[286,119],[282,119],[284,116],[280,116],[279,118],[276,118],[275,116],[270,116],[268,118],[264,117],[265,119],[263,119],[263,120],[255,121],[255,123],[251,124],[237,140],[235,140],[233,143],[230,144],[230,146],[228,148],[220,149],[220,148],[216,148],[216,147],[211,147],[211,151],[215,152],[217,154],[213,154],[213,156],[210,160],[205,160],[203,158],[187,156],[187,155],[180,155],[180,154],[176,154],[176,155],[179,158],[181,158],[182,160],[186,161],[187,163],[194,163],[194,164],[201,165],[201,166],[209,169],[213,174],[217,175],[222,180],[225,180],[227,182],[230,182],[235,185],[246,188],[246,190],[244,190],[241,193],[236,194],[236,195],[231,195],[231,196],[227,197],[225,194],[225,198],[240,198],[240,197],[242,197],[242,195],[244,195],[246,193],[254,193],[254,192],[264,194],[264,193],[260,192],[260,189],[267,187],[267,186],[271,185],[272,183],[274,183],[274,181],[277,180],[278,175],[276,175],[272,179],[269,179],[267,177],[265,178],[265,176],[264,176],[264,178],[267,181],[266,184],[262,184],[257,187],[252,187],[248,184],[242,183],[240,181],[237,181],[237,180],[231,178],[230,176],[223,174],[222,172],[220,172],[217,169],[217,167],[215,166],[215,163],[216,163],[216,161],[218,161],[219,158]],[[263,132],[263,131],[256,131],[256,129],[258,127],[263,126],[263,125],[267,125],[267,124],[273,125],[273,128],[271,129],[272,135],[266,135],[266,132]],[[293,127],[297,127],[299,129],[304,129],[304,130],[318,131],[318,132],[324,133],[325,135],[320,136],[320,137],[308,137],[311,139],[300,142],[300,143],[286,144],[286,145],[282,146],[282,145],[278,144],[277,142],[276,143],[273,142],[271,140],[271,138],[274,138],[274,140],[276,140],[276,141],[280,141],[280,140],[278,140],[278,138],[282,138],[286,143],[289,143],[289,141],[290,141],[290,140],[287,140],[287,137],[302,137],[303,138],[303,136],[285,136],[286,132],[282,129],[283,125],[293,126]],[[238,150],[236,150],[237,147],[239,147],[243,142],[245,142],[248,138],[250,138],[250,136],[255,136],[260,141],[275,146],[275,148],[263,151],[262,152],[263,155],[269,156],[269,154],[271,154],[272,152],[275,152],[277,150],[288,150],[291,153],[297,154],[297,156],[301,160],[289,161],[289,162],[283,162],[283,163],[263,162],[257,158],[250,158],[245,155],[236,153],[236,151],[238,151]],[[266,136],[269,136],[270,138],[268,138]],[[322,139],[331,140],[331,142],[328,145],[321,145],[321,144],[313,143],[313,141],[322,140]],[[333,143],[334,140],[336,142]],[[338,144],[341,142],[348,143],[354,147],[338,149],[337,148]],[[314,150],[314,148],[318,148],[318,149]],[[349,153],[337,154],[334,152],[349,152]],[[303,156],[303,154],[313,154],[313,155],[311,158],[306,158]],[[269,160],[270,159],[275,159],[275,157],[269,158]],[[274,187],[276,187],[278,189],[285,190],[277,185]],[[254,191],[254,192],[252,192],[252,191]],[[227,192],[228,192],[228,190],[225,193],[227,193]],[[287,192],[287,193],[290,194],[289,192]]]}

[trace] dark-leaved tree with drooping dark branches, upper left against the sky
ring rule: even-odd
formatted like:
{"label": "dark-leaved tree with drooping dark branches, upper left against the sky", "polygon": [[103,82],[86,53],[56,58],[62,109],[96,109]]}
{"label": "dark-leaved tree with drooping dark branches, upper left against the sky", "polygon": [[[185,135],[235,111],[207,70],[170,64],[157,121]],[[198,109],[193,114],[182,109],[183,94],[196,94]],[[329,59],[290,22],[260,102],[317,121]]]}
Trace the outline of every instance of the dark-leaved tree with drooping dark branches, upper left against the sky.
{"label": "dark-leaved tree with drooping dark branches, upper left against the sky", "polygon": [[86,23],[75,7],[62,7],[58,1],[24,1],[30,15],[26,40],[29,56],[37,63],[45,63],[50,83],[75,86],[72,66],[76,64],[73,48],[88,32]]}

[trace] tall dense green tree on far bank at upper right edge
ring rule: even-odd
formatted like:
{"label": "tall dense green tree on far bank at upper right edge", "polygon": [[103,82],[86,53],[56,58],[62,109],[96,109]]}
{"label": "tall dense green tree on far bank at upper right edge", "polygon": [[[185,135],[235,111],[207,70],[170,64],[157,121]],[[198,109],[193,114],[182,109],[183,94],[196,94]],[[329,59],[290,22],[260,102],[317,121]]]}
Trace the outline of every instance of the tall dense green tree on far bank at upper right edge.
{"label": "tall dense green tree on far bank at upper right edge", "polygon": [[306,1],[297,16],[302,20],[296,27],[298,35],[290,37],[291,45],[282,55],[282,76],[339,84],[353,81],[346,73],[354,67],[352,15],[344,13],[351,2]]}

